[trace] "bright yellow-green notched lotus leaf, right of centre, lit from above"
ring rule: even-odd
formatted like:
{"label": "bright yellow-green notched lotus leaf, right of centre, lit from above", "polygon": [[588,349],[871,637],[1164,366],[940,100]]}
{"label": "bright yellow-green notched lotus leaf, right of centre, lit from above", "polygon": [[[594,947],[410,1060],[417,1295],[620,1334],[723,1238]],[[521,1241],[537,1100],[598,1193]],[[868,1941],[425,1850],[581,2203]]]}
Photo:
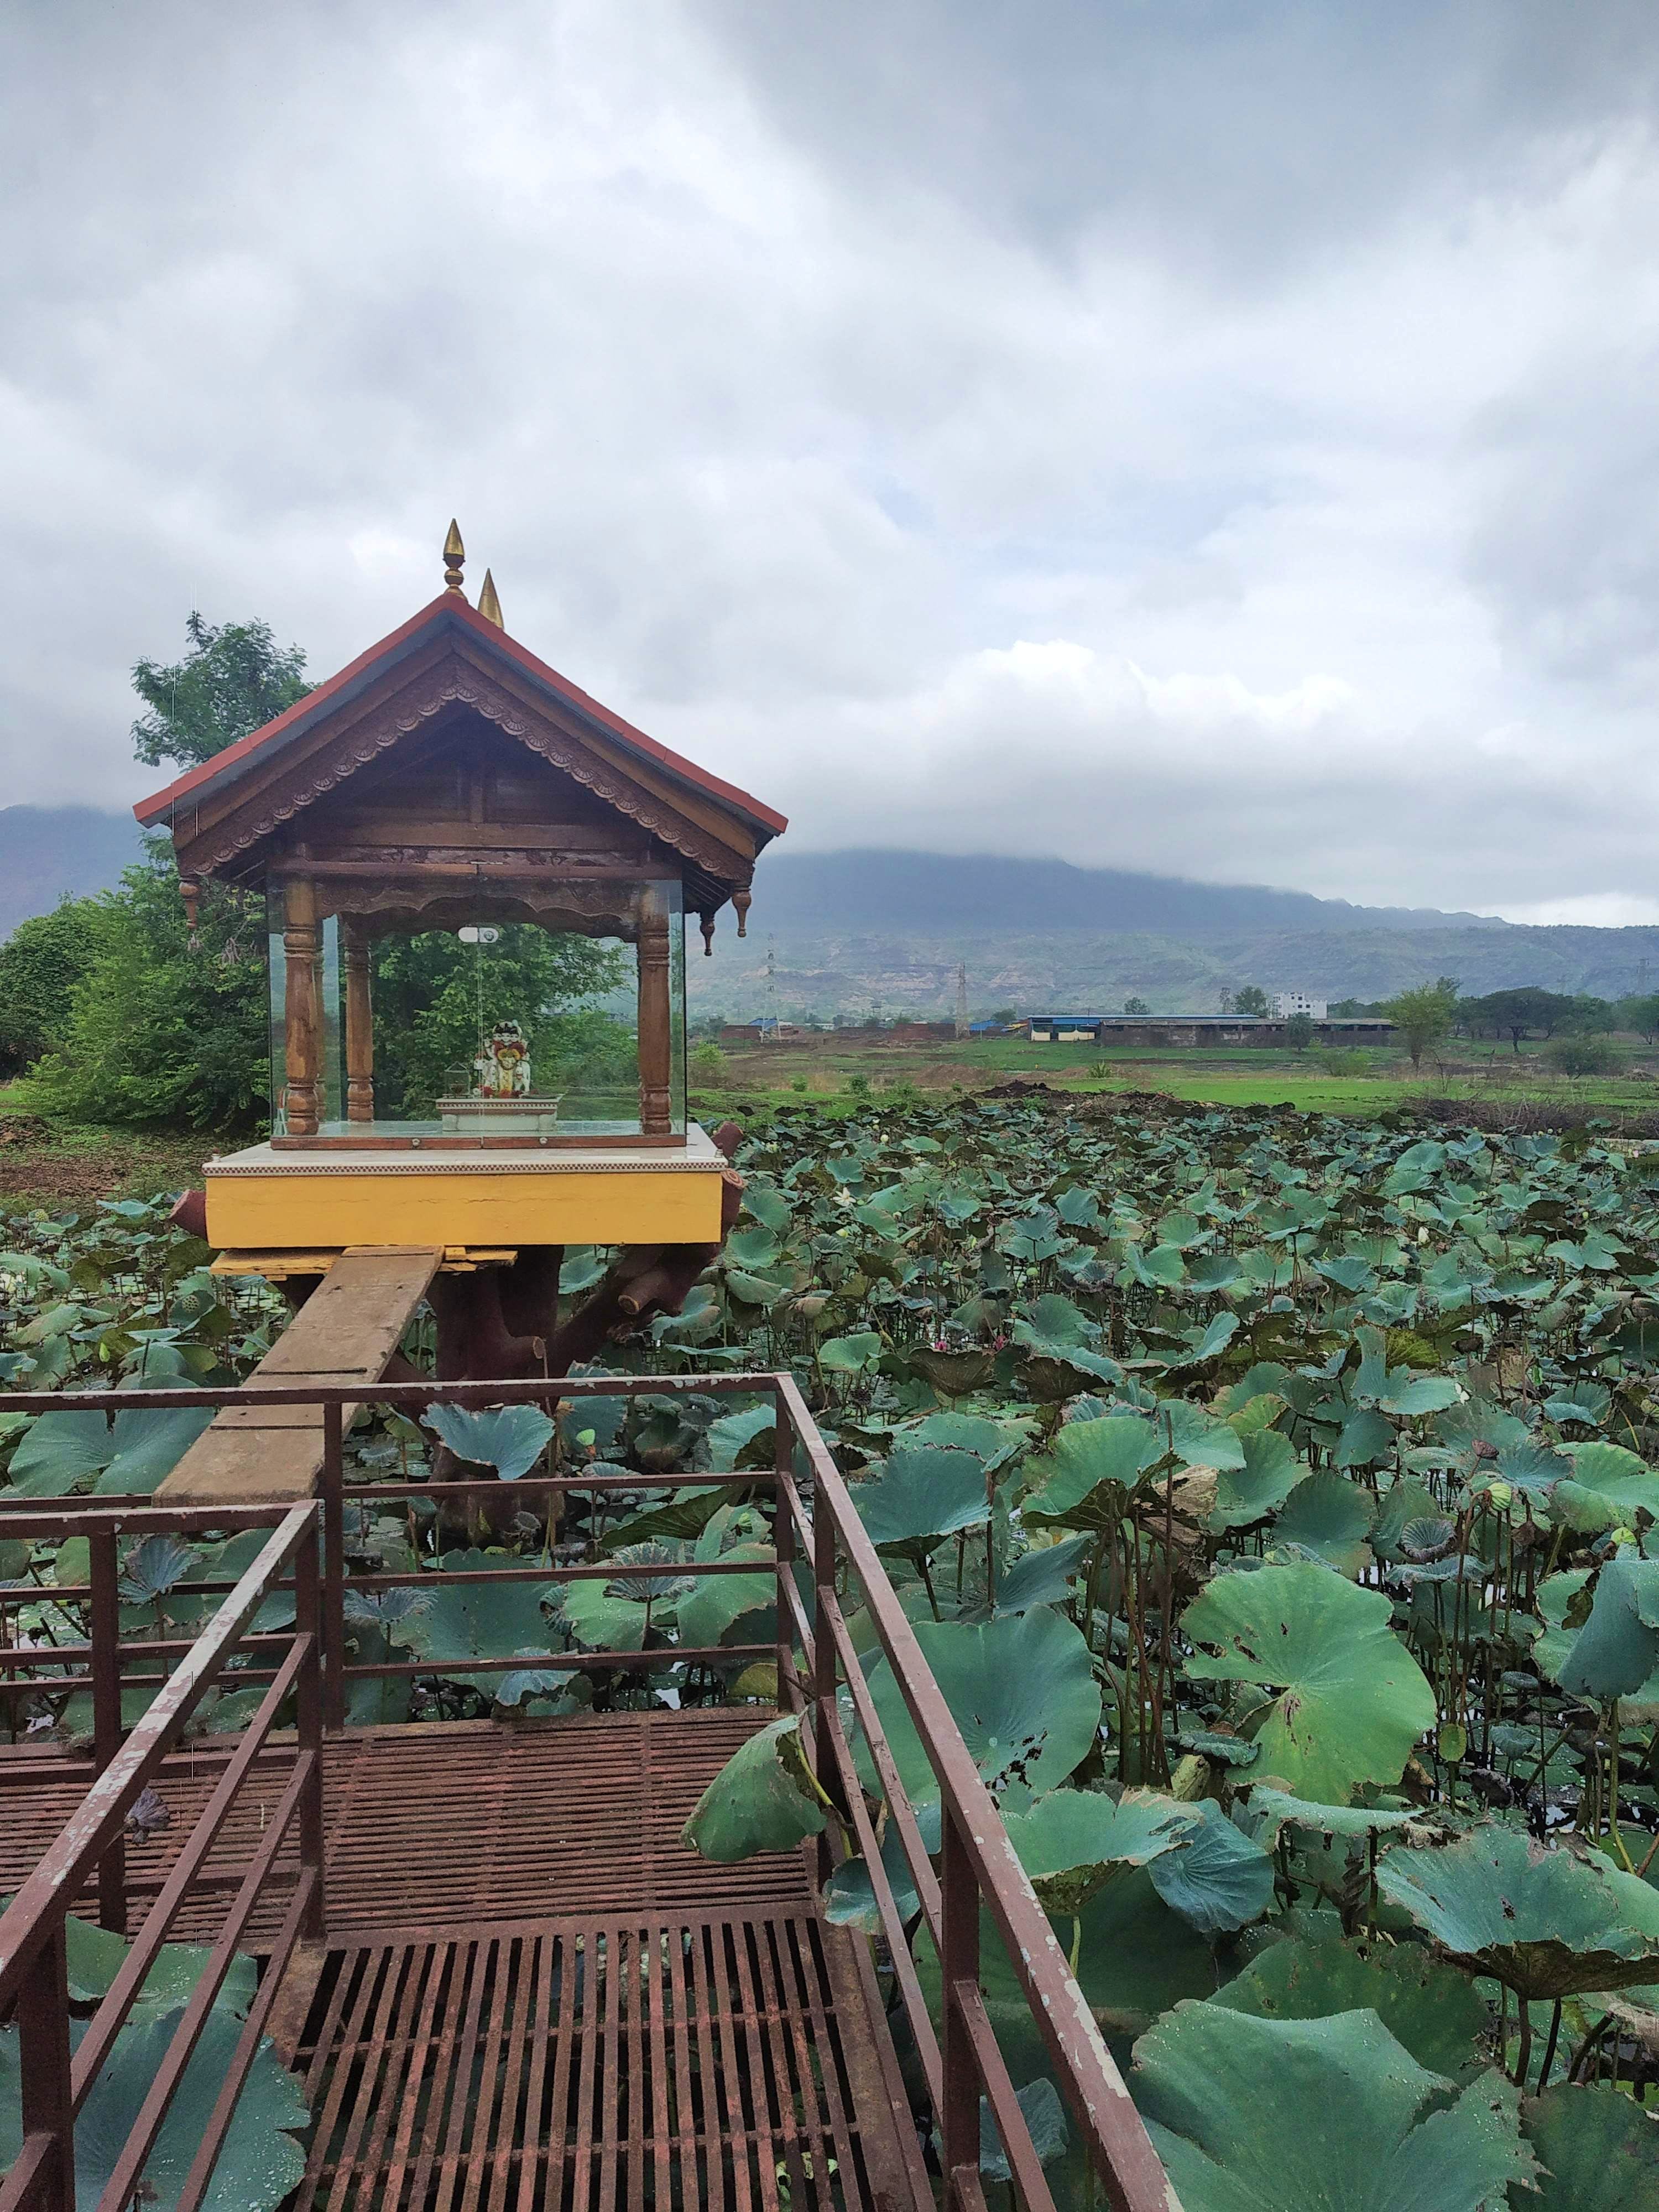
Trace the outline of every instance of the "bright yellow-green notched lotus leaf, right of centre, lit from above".
{"label": "bright yellow-green notched lotus leaf, right of centre, lit from above", "polygon": [[1261,1772],[1345,1805],[1358,1783],[1391,1785],[1436,1721],[1422,1668],[1389,1628],[1380,1590],[1325,1566],[1219,1575],[1181,1617],[1201,1681],[1276,1688],[1256,1730]]}

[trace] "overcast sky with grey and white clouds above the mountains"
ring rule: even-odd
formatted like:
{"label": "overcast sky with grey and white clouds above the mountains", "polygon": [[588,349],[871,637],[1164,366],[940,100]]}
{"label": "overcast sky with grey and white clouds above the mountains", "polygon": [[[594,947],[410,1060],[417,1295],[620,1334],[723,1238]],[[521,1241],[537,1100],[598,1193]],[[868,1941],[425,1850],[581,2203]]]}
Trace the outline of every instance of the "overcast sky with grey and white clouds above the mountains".
{"label": "overcast sky with grey and white clouds above the mountains", "polygon": [[0,801],[440,586],[799,847],[1659,920],[1652,0],[11,0]]}

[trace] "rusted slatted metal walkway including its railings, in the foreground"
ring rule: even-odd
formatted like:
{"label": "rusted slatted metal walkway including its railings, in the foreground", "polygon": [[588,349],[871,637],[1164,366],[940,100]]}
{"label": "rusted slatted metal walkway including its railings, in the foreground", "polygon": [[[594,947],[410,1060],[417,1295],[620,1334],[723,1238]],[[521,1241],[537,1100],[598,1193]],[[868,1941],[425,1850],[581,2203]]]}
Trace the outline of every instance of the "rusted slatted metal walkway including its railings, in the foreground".
{"label": "rusted slatted metal walkway including its railings, in the foreground", "polygon": [[[675,1480],[770,1504],[776,1641],[538,1650],[538,1670],[588,1674],[617,1710],[356,1730],[345,1728],[354,1683],[453,1668],[471,1681],[524,1663],[522,1652],[352,1657],[347,1599],[376,1601],[431,1573],[347,1562],[345,1513],[420,1489],[345,1480],[343,1416],[363,1387],[310,1378],[261,1391],[321,1418],[319,1500],[95,1495],[0,1511],[4,1535],[73,1535],[88,1562],[86,1584],[51,1586],[73,1641],[7,1648],[0,1697],[11,1710],[44,1701],[60,1725],[84,1699],[93,1719],[91,1756],[0,1747],[0,1889],[15,1889],[0,1913],[0,2022],[15,2011],[22,2084],[22,2152],[0,2177],[0,2212],[75,2212],[77,2115],[161,1944],[179,1938],[210,1953],[97,2212],[142,2201],[237,1951],[254,1953],[261,1975],[177,2212],[208,2201],[263,2037],[310,2108],[296,2212],[984,2212],[987,2115],[1002,2143],[991,2170],[1011,2177],[1024,2212],[1055,2212],[987,2006],[982,1942],[1002,1951],[1029,2006],[1097,2201],[1170,2212],[1168,2177],[794,1380],[372,1385],[376,1402],[414,1409],[690,1387],[772,1396],[770,1469]],[[86,1405],[115,1413],[228,1396],[88,1394]],[[635,1484],[582,1467],[515,1478],[513,1495],[540,1502],[551,1526],[564,1493]],[[500,1484],[445,1493],[453,1511]],[[173,1586],[219,1599],[184,1639],[139,1635],[122,1615],[124,1546],[161,1531],[261,1533],[234,1584]],[[447,1573],[456,1586],[551,1593],[661,1566],[608,1555],[555,1566],[544,1548]],[[752,1575],[754,1562],[699,1564],[699,1575],[734,1573]],[[292,1606],[268,1613],[279,1593]],[[925,1761],[916,1803],[867,1679],[874,1652],[854,1644],[854,1608]],[[270,1617],[292,1626],[261,1630]],[[653,1703],[646,1681],[675,1670],[695,1694],[710,1677],[765,1670],[776,1708]],[[192,1741],[206,1692],[226,1679],[254,1692],[254,1710],[237,1732]],[[124,1708],[133,1688],[153,1692],[137,1721]],[[801,1851],[710,1863],[681,1843],[684,1823],[748,1736],[774,1723],[796,1732],[834,1820]],[[918,1823],[929,1798],[931,1851]],[[825,1918],[823,1885],[847,1854],[863,1860],[876,1942]],[[80,2024],[71,1911],[131,1938]],[[936,1960],[931,1989],[911,1942]]]}

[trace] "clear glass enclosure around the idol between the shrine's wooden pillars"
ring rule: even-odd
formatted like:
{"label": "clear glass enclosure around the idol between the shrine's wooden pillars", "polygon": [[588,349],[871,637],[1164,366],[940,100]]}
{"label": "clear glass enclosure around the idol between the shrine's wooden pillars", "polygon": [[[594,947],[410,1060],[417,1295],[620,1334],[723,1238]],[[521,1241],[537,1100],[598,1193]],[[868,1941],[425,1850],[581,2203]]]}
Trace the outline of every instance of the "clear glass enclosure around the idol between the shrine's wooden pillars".
{"label": "clear glass enclosure around the idol between the shrine's wooden pillars", "polygon": [[[290,1144],[684,1144],[686,929],[677,880],[633,885],[628,936],[449,907],[442,929],[316,925],[314,1133],[285,1082],[285,936],[272,929],[272,1135]],[[281,914],[276,916],[281,925]]]}

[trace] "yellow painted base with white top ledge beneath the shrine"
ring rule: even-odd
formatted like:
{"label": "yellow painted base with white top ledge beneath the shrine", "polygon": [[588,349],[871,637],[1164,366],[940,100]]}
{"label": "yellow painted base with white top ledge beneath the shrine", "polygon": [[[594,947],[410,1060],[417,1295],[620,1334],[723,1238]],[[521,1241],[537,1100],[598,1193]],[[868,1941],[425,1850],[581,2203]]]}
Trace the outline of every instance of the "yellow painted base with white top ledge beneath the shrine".
{"label": "yellow painted base with white top ledge beneath the shrine", "polygon": [[717,1243],[726,1161],[684,1152],[356,1152],[349,1166],[252,1146],[210,1161],[208,1243],[221,1252],[345,1245]]}

